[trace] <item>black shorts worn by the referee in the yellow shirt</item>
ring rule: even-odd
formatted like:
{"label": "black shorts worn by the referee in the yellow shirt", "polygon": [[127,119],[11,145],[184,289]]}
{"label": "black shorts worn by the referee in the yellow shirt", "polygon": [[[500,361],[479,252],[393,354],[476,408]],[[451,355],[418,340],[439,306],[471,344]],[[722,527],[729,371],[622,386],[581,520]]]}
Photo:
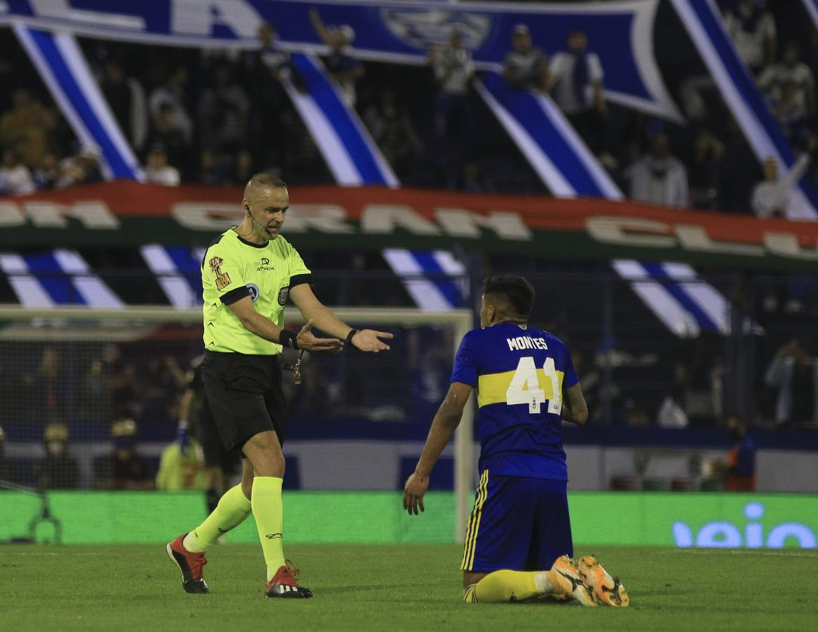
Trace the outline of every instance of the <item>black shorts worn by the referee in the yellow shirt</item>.
{"label": "black shorts worn by the referee in the yellow shirt", "polygon": [[250,437],[267,430],[275,430],[283,444],[286,406],[278,356],[209,351],[201,368],[210,410],[227,450],[240,450]]}

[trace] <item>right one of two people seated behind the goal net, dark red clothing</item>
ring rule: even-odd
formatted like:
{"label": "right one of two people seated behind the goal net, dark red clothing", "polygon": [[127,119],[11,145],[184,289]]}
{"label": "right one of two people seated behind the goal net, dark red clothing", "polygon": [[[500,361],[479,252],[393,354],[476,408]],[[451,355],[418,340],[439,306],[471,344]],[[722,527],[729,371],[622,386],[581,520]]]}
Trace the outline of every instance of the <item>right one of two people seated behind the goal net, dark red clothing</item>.
{"label": "right one of two people seated behind the goal net, dark red clothing", "polygon": [[111,456],[94,461],[97,487],[115,490],[150,490],[154,477],[142,456],[137,455],[137,424],[133,419],[119,419],[111,426],[114,440]]}

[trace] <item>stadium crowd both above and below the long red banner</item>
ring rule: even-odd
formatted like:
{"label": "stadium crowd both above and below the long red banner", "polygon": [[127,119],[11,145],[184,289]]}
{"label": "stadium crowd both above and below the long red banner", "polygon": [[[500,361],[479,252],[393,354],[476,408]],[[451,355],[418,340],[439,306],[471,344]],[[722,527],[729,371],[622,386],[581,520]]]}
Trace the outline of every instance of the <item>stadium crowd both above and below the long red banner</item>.
{"label": "stadium crowd both above and below the long red banner", "polygon": [[[668,88],[689,121],[685,126],[606,101],[606,61],[578,30],[559,52],[546,56],[533,46],[536,34],[517,25],[509,34],[503,74],[512,86],[551,94],[632,199],[782,216],[800,177],[818,189],[818,34],[798,13],[798,2],[725,0],[719,5],[740,56],[799,155],[789,173],[782,173],[775,160],[757,164],[703,64],[678,54],[693,47],[667,3],[658,11],[656,31],[663,37],[656,39],[655,50]],[[312,23],[330,47],[326,68],[403,184],[546,192],[474,95],[472,84],[479,72],[456,30],[429,51],[427,65],[410,67],[357,61],[348,54],[355,37],[351,29],[325,24],[318,12],[312,14]],[[299,77],[289,55],[277,46],[273,25],[259,30],[256,50],[241,53],[89,39],[82,39],[81,45],[149,182],[240,186],[259,170],[280,173],[293,185],[331,182],[286,95],[283,78],[289,76],[298,89]],[[100,180],[98,150],[76,140],[9,29],[0,29],[0,47],[9,52],[0,58],[0,81],[7,87],[0,95],[0,195]],[[783,277],[771,280],[769,289],[757,293],[764,303],[757,313],[807,312],[792,302],[801,297],[815,303],[815,285],[798,291]],[[580,338],[578,329],[567,325],[569,320],[562,315],[547,328],[566,341]],[[758,387],[757,415],[749,424],[818,424],[815,341],[808,332],[793,334],[786,320],[762,324],[771,335],[767,346],[757,349],[759,370],[751,378]],[[330,361],[308,362],[301,388],[288,393],[294,418],[357,416],[380,423],[427,423],[447,382],[447,346],[421,347],[411,337],[406,344],[405,354],[396,357],[408,358],[411,388],[389,388],[393,374],[406,372],[390,374],[387,367],[379,376],[384,401],[367,400],[371,389],[359,383],[356,371],[339,370]],[[655,353],[651,360],[649,352],[636,351],[627,341],[569,344],[587,392],[589,423],[672,428],[726,424],[726,346],[703,334],[657,361]],[[152,351],[108,345],[84,358],[81,366],[73,360],[70,372],[61,347],[51,345],[42,347],[36,366],[21,369],[0,363],[0,398],[12,402],[0,406],[0,424],[8,428],[20,420],[36,420],[36,439],[43,442],[45,454],[29,476],[18,478],[52,487],[50,473],[60,472],[60,486],[77,486],[68,428],[83,420],[109,429],[110,454],[95,460],[95,486],[155,486],[155,468],[142,462],[135,449],[138,428],[161,424],[164,435],[175,436],[187,363],[194,354],[186,347]],[[629,381],[628,371],[636,372],[638,379]],[[631,388],[632,383],[644,383],[646,374],[662,374],[660,388],[649,397]],[[191,432],[195,434],[195,428]],[[0,433],[0,480],[15,480],[13,464],[2,455],[3,437]],[[184,433],[178,442],[193,445]]]}

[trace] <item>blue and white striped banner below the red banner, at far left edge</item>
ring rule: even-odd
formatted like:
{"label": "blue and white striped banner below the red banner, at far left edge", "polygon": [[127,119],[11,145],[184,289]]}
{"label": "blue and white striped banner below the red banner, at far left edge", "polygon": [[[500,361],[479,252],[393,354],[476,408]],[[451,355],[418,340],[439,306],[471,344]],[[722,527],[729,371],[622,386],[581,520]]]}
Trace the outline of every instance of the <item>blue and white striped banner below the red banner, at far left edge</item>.
{"label": "blue and white striped banner below the red banner, at far left edge", "polygon": [[0,269],[26,307],[124,307],[122,300],[75,250],[25,255],[0,253]]}

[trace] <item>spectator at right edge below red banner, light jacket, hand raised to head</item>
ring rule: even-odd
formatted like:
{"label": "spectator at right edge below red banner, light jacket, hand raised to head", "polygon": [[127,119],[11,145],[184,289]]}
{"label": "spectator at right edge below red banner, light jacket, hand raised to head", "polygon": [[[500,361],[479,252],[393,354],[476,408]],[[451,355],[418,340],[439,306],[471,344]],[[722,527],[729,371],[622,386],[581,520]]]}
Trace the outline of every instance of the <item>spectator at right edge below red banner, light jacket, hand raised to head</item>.
{"label": "spectator at right edge below red banner, light jacket, hand raised to head", "polygon": [[780,347],[764,382],[778,392],[775,424],[779,428],[818,424],[818,360],[801,339],[792,338]]}

